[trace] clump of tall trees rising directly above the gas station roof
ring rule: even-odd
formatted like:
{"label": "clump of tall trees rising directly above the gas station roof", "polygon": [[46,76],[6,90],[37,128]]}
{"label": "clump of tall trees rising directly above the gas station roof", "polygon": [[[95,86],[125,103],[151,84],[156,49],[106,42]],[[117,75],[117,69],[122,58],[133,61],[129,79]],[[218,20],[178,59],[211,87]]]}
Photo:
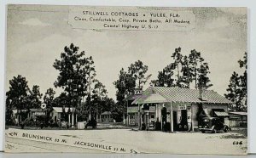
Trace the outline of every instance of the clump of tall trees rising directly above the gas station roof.
{"label": "clump of tall trees rising directly above the gas station roof", "polygon": [[195,88],[198,85],[206,88],[211,87],[210,79],[207,74],[210,73],[209,66],[201,53],[195,49],[191,50],[189,56],[181,54],[181,48],[175,48],[172,54],[173,62],[167,65],[163,71],[159,71],[158,79],[151,81],[151,85],[160,87],[183,87],[189,88],[190,83],[195,82]]}

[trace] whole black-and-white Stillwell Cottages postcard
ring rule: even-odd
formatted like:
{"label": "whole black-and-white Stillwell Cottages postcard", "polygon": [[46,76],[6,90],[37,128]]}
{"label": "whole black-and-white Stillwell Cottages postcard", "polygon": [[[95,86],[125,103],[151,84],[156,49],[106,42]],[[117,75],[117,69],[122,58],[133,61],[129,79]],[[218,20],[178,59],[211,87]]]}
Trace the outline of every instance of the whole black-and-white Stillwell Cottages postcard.
{"label": "whole black-and-white Stillwell Cottages postcard", "polygon": [[247,154],[247,8],[7,7],[6,152]]}

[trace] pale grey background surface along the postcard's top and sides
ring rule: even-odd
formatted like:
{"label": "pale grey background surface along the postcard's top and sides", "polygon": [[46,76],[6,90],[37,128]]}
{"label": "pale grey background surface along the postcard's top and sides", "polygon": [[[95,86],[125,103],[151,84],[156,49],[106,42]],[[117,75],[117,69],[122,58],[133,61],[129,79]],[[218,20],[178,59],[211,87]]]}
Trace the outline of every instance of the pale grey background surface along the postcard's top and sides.
{"label": "pale grey background surface along the postcard's top and sides", "polygon": [[[6,51],[6,4],[15,3],[15,4],[53,4],[53,5],[98,5],[98,6],[165,6],[165,7],[247,7],[248,8],[248,52],[249,52],[249,66],[248,66],[248,93],[249,98],[248,102],[251,106],[248,107],[248,153],[256,153],[256,116],[253,115],[253,111],[256,111],[256,98],[253,96],[253,92],[256,92],[256,74],[253,74],[253,69],[256,69],[256,54],[253,52],[256,51],[256,19],[252,15],[256,14],[256,1],[251,0],[215,0],[215,1],[205,1],[205,0],[172,0],[172,1],[152,1],[152,0],[134,0],[134,1],[125,1],[125,0],[4,0],[1,1],[0,5],[0,150],[3,150],[4,142],[4,82],[5,82],[5,51]],[[254,94],[255,95],[255,94]]]}

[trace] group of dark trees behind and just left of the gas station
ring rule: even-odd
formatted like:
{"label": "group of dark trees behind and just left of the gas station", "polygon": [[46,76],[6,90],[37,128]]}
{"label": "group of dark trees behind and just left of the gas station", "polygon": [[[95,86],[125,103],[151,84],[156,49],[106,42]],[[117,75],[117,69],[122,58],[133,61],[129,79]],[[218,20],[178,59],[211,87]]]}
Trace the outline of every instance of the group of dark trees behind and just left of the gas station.
{"label": "group of dark trees behind and just left of the gas station", "polygon": [[[195,49],[190,51],[189,55],[183,55],[181,48],[175,48],[171,55],[172,62],[162,71],[158,72],[157,79],[151,80],[150,85],[155,87],[182,87],[195,88],[212,87],[210,78],[208,77],[208,63],[201,57],[201,52]],[[122,68],[119,71],[119,79],[113,82],[117,89],[117,103],[123,105],[125,111],[125,97],[133,94],[133,89],[143,88],[148,82],[151,74],[147,75],[148,65],[138,60],[131,64],[127,71]],[[193,84],[194,83],[194,84]],[[193,84],[193,85],[192,85]]]}

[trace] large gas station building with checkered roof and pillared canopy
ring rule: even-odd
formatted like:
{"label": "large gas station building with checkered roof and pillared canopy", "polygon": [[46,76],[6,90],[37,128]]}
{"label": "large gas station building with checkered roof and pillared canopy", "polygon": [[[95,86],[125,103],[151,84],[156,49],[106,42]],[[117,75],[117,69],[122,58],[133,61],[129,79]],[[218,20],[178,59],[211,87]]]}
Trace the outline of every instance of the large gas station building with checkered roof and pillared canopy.
{"label": "large gas station building with checkered roof and pillared canopy", "polygon": [[148,87],[131,104],[137,105],[140,129],[196,130],[204,117],[219,117],[229,125],[228,105],[233,104],[212,90],[180,87]]}

